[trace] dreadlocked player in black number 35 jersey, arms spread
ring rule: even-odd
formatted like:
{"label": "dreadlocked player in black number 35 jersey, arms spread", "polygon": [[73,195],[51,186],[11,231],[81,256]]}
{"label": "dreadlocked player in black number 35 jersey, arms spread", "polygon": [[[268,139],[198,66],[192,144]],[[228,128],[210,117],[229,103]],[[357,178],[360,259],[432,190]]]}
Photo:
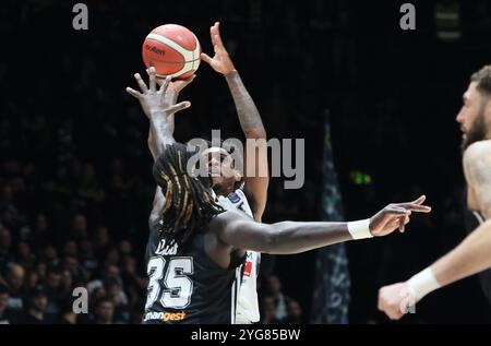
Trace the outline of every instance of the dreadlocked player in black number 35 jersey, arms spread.
{"label": "dreadlocked player in black number 35 jersey, arms spread", "polygon": [[[136,97],[151,121],[157,182],[149,217],[146,249],[148,295],[144,323],[232,323],[236,317],[237,270],[247,250],[289,254],[342,241],[404,231],[412,212],[428,213],[424,196],[414,202],[390,204],[371,218],[351,223],[258,223],[232,208],[226,211],[212,189],[209,176],[187,170],[197,154],[173,141],[173,114],[190,103],[175,103],[170,77],[156,88],[154,69],[148,87],[135,75]],[[230,165],[225,156],[223,165]]]}

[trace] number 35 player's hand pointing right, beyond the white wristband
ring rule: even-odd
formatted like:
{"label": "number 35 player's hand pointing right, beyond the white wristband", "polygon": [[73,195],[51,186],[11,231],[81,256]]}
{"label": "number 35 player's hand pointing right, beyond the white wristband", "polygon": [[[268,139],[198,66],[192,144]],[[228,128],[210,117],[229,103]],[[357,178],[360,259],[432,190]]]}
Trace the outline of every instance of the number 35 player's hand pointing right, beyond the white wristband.
{"label": "number 35 player's hand pointing right, beyond the white wristband", "polygon": [[386,236],[397,228],[400,232],[404,232],[404,226],[409,223],[409,216],[412,212],[431,212],[431,207],[422,205],[426,199],[424,195],[421,195],[412,202],[388,204],[370,218],[370,232],[374,237]]}

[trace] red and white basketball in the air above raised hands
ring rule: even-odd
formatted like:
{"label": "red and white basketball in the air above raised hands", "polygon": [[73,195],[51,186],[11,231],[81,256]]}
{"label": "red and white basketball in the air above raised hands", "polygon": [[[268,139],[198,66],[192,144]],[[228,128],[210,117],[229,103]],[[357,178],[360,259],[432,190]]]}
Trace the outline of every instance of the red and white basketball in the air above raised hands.
{"label": "red and white basketball in the air above raised hands", "polygon": [[154,67],[158,76],[170,75],[185,80],[200,65],[201,46],[196,36],[187,27],[166,24],[154,28],[142,47],[143,61]]}

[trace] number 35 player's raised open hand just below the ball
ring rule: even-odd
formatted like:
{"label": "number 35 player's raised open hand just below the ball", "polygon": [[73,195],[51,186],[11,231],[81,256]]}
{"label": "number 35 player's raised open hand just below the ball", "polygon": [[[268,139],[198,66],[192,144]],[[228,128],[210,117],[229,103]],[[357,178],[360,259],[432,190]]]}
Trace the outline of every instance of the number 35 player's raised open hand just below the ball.
{"label": "number 35 player's raised open hand just below the ball", "polygon": [[170,76],[167,76],[164,80],[164,83],[157,90],[156,73],[154,68],[148,69],[148,87],[142,80],[140,73],[135,73],[134,75],[134,79],[136,80],[141,92],[136,92],[131,87],[127,87],[128,94],[140,100],[142,109],[148,118],[155,115],[160,116],[163,114],[168,117],[179,110],[185,109],[191,106],[190,102],[182,102],[175,105],[175,103],[170,100],[169,97],[166,97],[166,93],[170,84]]}

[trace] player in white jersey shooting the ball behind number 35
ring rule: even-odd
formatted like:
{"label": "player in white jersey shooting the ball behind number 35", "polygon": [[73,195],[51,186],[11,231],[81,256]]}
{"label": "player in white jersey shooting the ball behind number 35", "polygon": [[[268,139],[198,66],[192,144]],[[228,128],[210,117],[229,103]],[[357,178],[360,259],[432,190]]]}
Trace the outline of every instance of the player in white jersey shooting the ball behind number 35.
{"label": "player in white jersey shooting the ball behind number 35", "polygon": [[[202,53],[202,60],[208,63],[213,70],[225,76],[233,98],[241,129],[250,144],[246,145],[243,171],[232,167],[230,153],[221,147],[211,147],[206,150],[203,155],[207,156],[213,190],[218,196],[219,204],[226,210],[238,210],[249,217],[252,217],[254,220],[261,222],[266,206],[270,180],[266,131],[261,120],[260,112],[243,85],[233,62],[221,41],[218,22],[211,26],[209,33],[214,57],[211,58],[206,53]],[[172,97],[177,97],[182,87],[189,84],[193,79],[194,75],[185,81],[177,80],[170,82]],[[157,77],[157,84],[161,85],[163,82],[163,79]],[[149,141],[151,144],[153,144],[152,132]],[[248,155],[248,152],[251,150],[255,153],[253,153],[253,155]],[[155,148],[152,147],[151,151],[155,152]],[[251,159],[249,163],[248,157],[253,157],[253,160]],[[244,175],[244,172],[249,172],[249,166],[253,166],[254,171]],[[237,318],[235,323],[250,324],[260,321],[256,290],[260,260],[260,253],[248,251],[246,263],[238,271],[237,283],[235,284],[238,290]]]}

